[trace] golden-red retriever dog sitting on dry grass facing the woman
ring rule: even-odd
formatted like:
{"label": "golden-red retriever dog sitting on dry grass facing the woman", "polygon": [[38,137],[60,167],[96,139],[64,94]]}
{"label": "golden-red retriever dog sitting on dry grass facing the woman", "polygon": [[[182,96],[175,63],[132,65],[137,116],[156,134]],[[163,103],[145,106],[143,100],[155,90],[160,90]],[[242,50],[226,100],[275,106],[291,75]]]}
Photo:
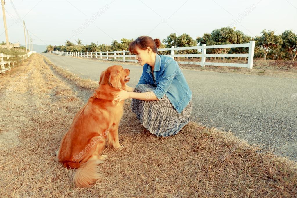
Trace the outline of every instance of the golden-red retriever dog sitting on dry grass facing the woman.
{"label": "golden-red retriever dog sitting on dry grass facing the woman", "polygon": [[99,87],[88,102],[76,113],[74,120],[61,140],[56,152],[58,160],[66,168],[76,168],[73,182],[79,187],[92,186],[100,178],[98,164],[106,155],[101,155],[108,146],[122,148],[119,144],[119,122],[124,113],[124,100],[113,101],[126,90],[130,77],[129,69],[113,65],[100,75]]}

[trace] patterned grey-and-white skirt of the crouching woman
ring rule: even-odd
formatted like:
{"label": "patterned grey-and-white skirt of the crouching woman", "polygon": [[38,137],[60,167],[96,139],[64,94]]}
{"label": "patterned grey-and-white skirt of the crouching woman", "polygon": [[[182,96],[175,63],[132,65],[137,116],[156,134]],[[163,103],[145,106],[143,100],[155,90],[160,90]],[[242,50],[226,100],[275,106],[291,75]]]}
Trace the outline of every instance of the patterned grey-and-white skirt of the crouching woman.
{"label": "patterned grey-and-white skirt of the crouching woman", "polygon": [[[149,92],[155,88],[153,85],[139,84],[134,92]],[[131,109],[149,132],[157,136],[167,137],[177,134],[189,123],[192,113],[192,100],[181,113],[174,109],[166,94],[159,101],[132,99]]]}

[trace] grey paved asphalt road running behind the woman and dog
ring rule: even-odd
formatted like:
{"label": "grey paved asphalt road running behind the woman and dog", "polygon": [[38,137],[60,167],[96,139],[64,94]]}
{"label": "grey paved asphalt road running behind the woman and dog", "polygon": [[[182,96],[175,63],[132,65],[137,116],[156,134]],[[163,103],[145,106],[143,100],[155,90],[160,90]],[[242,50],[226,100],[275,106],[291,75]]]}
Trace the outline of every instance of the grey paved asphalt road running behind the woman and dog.
{"label": "grey paved asphalt road running behind the woman and dog", "polygon": [[[57,66],[83,78],[99,81],[113,63],[69,56],[42,54]],[[142,66],[129,68],[129,86],[138,83]],[[297,161],[297,80],[182,70],[193,92],[191,120],[208,127],[232,131],[250,144],[275,149],[279,156]],[[296,94],[297,95],[297,94]]]}

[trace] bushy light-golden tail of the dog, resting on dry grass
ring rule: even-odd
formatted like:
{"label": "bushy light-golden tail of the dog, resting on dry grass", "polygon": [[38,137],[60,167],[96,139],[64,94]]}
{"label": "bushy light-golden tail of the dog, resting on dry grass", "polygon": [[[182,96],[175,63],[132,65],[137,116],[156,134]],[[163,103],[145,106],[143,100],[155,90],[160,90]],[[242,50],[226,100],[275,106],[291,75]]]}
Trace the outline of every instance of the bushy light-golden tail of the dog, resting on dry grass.
{"label": "bushy light-golden tail of the dog, resting on dry grass", "polygon": [[102,160],[90,160],[80,165],[73,175],[73,182],[79,187],[92,186],[101,177],[98,164]]}

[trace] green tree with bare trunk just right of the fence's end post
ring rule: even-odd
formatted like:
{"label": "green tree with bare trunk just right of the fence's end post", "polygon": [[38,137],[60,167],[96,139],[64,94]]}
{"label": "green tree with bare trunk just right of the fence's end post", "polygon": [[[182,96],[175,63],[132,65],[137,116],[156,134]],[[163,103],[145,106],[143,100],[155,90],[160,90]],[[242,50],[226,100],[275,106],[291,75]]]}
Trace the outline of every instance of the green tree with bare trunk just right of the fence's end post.
{"label": "green tree with bare trunk just right of the fence's end post", "polygon": [[275,35],[274,31],[268,31],[264,29],[261,32],[261,36],[255,37],[256,47],[262,47],[264,53],[264,61],[266,60],[267,53],[270,50],[277,51],[281,48],[282,37]]}

